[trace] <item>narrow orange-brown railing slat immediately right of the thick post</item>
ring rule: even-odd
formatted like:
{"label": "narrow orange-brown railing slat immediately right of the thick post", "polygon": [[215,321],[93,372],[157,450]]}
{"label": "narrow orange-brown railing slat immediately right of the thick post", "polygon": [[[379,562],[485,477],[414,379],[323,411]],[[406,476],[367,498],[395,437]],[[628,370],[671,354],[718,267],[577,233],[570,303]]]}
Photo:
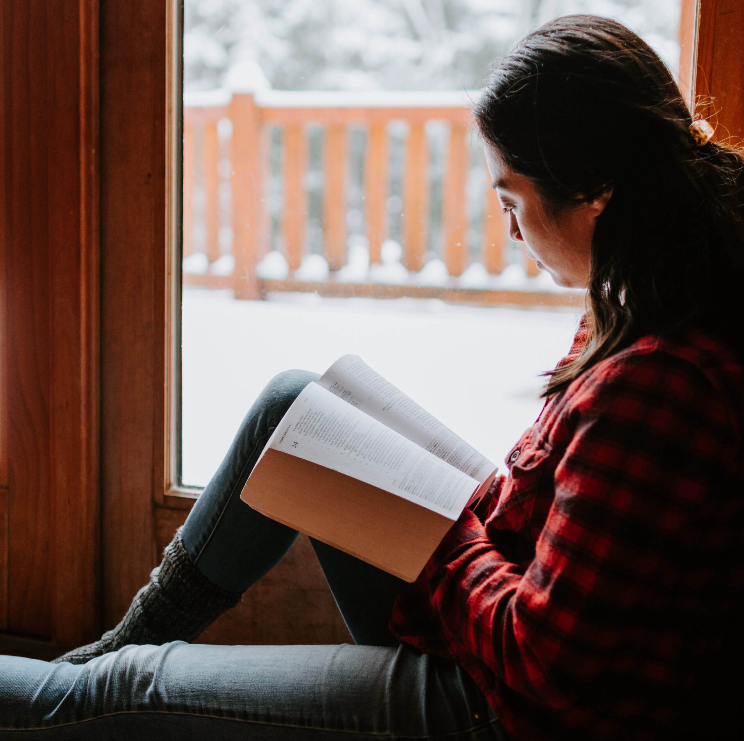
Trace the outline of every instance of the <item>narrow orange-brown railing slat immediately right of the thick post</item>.
{"label": "narrow orange-brown railing slat immediately right of the thick post", "polygon": [[302,124],[284,127],[284,214],[282,230],[289,270],[297,270],[305,252],[305,170],[307,147]]}

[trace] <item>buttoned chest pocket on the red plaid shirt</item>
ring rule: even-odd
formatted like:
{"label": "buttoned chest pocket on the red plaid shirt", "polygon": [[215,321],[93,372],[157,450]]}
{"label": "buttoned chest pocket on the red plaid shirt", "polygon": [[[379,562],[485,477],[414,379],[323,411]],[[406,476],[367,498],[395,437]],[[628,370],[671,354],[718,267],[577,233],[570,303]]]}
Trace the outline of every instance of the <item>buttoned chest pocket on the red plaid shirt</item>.
{"label": "buttoned chest pocket on the red plaid shirt", "polygon": [[[509,475],[489,526],[523,535],[530,533],[535,503],[551,454],[550,443],[530,427],[505,459]],[[542,527],[542,526],[541,526]]]}

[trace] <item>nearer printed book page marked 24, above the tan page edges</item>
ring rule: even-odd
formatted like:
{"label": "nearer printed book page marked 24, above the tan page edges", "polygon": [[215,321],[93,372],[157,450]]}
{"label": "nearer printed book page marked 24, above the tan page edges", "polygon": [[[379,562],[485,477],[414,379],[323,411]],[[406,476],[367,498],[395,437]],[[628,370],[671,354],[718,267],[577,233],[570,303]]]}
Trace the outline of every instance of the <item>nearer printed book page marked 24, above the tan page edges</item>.
{"label": "nearer printed book page marked 24, above the tan page edges", "polygon": [[333,468],[456,520],[478,481],[311,383],[266,448]]}

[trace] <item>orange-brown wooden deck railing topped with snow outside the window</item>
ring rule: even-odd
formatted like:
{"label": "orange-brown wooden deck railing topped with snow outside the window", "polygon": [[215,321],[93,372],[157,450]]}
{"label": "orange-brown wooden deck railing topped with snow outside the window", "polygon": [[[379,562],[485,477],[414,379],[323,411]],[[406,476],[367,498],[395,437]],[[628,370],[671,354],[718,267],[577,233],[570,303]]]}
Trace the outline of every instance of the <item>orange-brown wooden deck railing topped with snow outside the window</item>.
{"label": "orange-brown wooden deck railing topped with snow outside the window", "polygon": [[[201,274],[185,273],[185,284],[230,287],[235,296],[242,299],[260,298],[267,290],[318,290],[333,296],[440,296],[487,304],[574,302],[575,293],[551,290],[545,281],[536,279],[536,265],[524,254],[520,260],[525,271],[522,284],[515,286],[513,275],[508,286],[498,284],[498,276],[507,264],[509,239],[496,194],[487,182],[484,182],[482,193],[484,217],[479,229],[482,244],[478,248],[478,261],[487,276],[496,280],[487,281],[477,289],[459,283],[472,261],[466,201],[466,184],[473,165],[468,139],[471,136],[469,117],[463,92],[386,92],[371,96],[269,90],[257,95],[215,91],[187,96],[183,254],[188,258],[199,241],[199,251],[206,255],[210,266],[214,266],[225,255],[231,232],[234,268],[228,273],[222,260],[220,270],[210,267]],[[411,280],[395,285],[375,284],[369,279],[342,282],[335,274],[347,262],[348,130],[352,126],[366,129],[364,220],[370,263],[376,264],[382,259],[382,244],[388,236],[388,127],[392,121],[404,121],[408,126],[403,156],[400,241],[403,266]],[[417,271],[424,267],[428,244],[430,154],[426,124],[429,121],[443,121],[449,127],[441,187],[440,250],[449,279],[438,287],[423,286],[415,280]],[[327,279],[319,282],[302,282],[295,278],[295,271],[301,267],[307,251],[307,130],[310,124],[323,129],[322,252],[330,273]],[[260,271],[257,272],[261,259],[271,249],[266,208],[270,127],[282,130],[280,241],[289,268],[284,280],[263,280]],[[195,201],[196,193],[201,194],[199,203]],[[227,229],[224,225],[226,202],[229,204],[227,212],[231,214],[231,225]],[[228,238],[220,240],[223,231]],[[206,261],[202,262],[205,267]]]}

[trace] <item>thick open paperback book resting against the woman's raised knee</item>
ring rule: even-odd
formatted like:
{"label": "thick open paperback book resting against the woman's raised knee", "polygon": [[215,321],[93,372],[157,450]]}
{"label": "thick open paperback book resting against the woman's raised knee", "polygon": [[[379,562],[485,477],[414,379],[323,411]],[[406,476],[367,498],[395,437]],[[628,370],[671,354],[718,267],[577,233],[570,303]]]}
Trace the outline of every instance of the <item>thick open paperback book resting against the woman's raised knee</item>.
{"label": "thick open paperback book resting against the woman's raised knee", "polygon": [[241,498],[412,582],[495,476],[475,448],[344,355],[289,407]]}

